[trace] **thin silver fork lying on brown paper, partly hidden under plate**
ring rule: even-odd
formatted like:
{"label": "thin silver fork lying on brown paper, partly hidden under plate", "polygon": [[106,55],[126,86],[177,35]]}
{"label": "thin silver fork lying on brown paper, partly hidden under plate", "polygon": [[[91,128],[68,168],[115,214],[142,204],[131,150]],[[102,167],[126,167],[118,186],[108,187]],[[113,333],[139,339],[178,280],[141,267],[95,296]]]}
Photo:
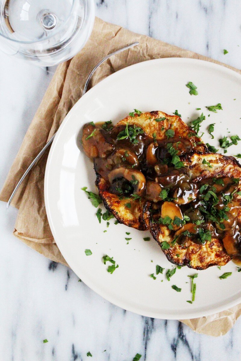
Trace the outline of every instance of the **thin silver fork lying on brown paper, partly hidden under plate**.
{"label": "thin silver fork lying on brown paper, partly hidden under plate", "polygon": [[[106,61],[106,60],[107,60],[108,58],[110,58],[112,55],[116,55],[116,54],[118,54],[118,53],[120,53],[120,52],[122,52],[122,51],[124,51],[124,50],[130,49],[130,48],[132,48],[133,46],[138,45],[138,44],[139,44],[138,42],[132,43],[132,44],[130,44],[130,45],[125,46],[124,48],[121,48],[121,49],[119,49],[119,50],[116,50],[116,51],[114,51],[113,53],[108,54],[107,56],[105,56],[105,57],[94,67],[94,69],[91,71],[89,77],[88,77],[87,80],[86,80],[86,83],[85,83],[85,87],[84,87],[82,96],[86,93],[87,86],[88,86],[89,81],[90,81],[92,75],[94,74],[95,70],[96,70],[97,68],[99,68],[99,66],[100,66],[104,61]],[[50,140],[48,141],[48,143],[47,143],[46,145],[44,145],[42,151],[40,151],[40,152],[38,153],[38,155],[36,156],[36,158],[34,158],[33,162],[30,164],[30,166],[29,166],[29,167],[26,169],[26,171],[23,173],[20,181],[18,182],[17,186],[14,188],[13,193],[11,194],[11,196],[10,196],[10,198],[9,198],[9,200],[8,200],[8,203],[7,203],[7,206],[6,206],[7,208],[9,207],[9,205],[10,205],[10,203],[11,203],[13,197],[14,197],[14,194],[17,192],[18,187],[19,187],[20,184],[22,183],[23,179],[26,177],[26,175],[29,173],[30,169],[33,168],[34,164],[36,164],[36,162],[38,162],[38,160],[42,157],[43,153],[46,151],[46,149],[47,149],[47,148],[50,146],[50,144],[53,142],[53,139],[54,139],[55,135],[56,135],[56,133],[52,136],[52,138],[50,138]]]}

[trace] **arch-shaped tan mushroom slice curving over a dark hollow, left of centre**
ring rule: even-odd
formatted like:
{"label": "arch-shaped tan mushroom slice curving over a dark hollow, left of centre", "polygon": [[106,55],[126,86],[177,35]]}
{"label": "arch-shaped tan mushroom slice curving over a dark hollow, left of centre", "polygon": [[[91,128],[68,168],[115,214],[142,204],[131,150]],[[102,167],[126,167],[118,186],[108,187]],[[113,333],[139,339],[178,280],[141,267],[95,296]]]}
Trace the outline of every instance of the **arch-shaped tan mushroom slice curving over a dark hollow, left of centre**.
{"label": "arch-shaped tan mushroom slice curving over a dark hollow, left of centre", "polygon": [[119,178],[125,178],[127,181],[129,181],[134,188],[134,193],[138,194],[139,196],[143,195],[145,192],[146,178],[140,170],[119,167],[113,169],[108,174],[110,183]]}

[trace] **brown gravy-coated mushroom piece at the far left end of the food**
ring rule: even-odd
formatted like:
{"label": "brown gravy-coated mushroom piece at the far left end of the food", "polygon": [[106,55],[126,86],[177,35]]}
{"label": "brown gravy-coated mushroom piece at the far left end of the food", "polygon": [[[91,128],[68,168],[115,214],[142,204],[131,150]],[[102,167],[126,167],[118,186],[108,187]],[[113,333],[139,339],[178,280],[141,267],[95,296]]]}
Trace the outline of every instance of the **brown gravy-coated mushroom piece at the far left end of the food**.
{"label": "brown gravy-coated mushroom piece at the far left end of the food", "polygon": [[83,127],[82,144],[89,158],[106,158],[113,151],[113,145],[106,141],[101,130],[90,123]]}

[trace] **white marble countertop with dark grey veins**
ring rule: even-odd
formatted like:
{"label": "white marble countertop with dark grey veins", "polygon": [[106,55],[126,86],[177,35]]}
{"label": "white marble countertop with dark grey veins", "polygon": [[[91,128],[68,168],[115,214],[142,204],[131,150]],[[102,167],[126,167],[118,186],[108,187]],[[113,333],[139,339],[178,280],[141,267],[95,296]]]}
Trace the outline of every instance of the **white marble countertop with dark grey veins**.
{"label": "white marble countertop with dark grey veins", "polygon": [[[241,66],[239,0],[95,3],[96,15],[106,21]],[[52,73],[3,53],[0,69],[2,186]],[[228,334],[214,339],[178,321],[126,312],[78,282],[73,271],[14,238],[16,215],[16,209],[7,211],[0,203],[1,360],[132,361],[136,353],[142,355],[141,361],[241,359],[241,318]]]}

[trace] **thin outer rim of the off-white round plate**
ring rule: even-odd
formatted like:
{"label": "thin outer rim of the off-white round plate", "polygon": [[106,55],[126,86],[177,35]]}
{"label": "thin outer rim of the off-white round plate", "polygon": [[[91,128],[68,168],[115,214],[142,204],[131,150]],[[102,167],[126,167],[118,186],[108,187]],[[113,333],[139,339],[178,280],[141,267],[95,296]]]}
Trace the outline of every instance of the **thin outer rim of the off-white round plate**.
{"label": "thin outer rim of the off-white round plate", "polygon": [[[123,69],[120,69],[118,71],[116,71],[115,73],[108,75],[108,77],[106,77],[105,79],[103,79],[102,81],[100,81],[98,84],[96,84],[94,87],[92,87],[90,90],[88,90],[85,95],[83,95],[77,102],[76,104],[73,105],[73,107],[69,110],[69,112],[66,114],[65,118],[63,119],[59,129],[56,132],[55,138],[53,140],[53,143],[51,145],[50,148],[50,152],[48,154],[48,159],[47,159],[47,164],[46,164],[46,170],[45,170],[45,175],[44,175],[44,203],[46,206],[46,213],[47,213],[47,218],[48,218],[48,222],[50,225],[50,229],[51,232],[53,234],[53,238],[55,239],[56,245],[59,248],[61,254],[63,255],[64,259],[66,260],[66,262],[68,263],[68,265],[71,264],[71,261],[69,262],[69,257],[67,255],[67,257],[64,256],[64,251],[62,252],[62,245],[61,242],[60,244],[58,244],[58,237],[57,237],[57,232],[55,231],[55,226],[53,224],[53,220],[52,220],[52,216],[51,216],[51,210],[50,210],[50,206],[49,206],[49,197],[48,197],[48,178],[49,178],[49,173],[50,173],[50,167],[51,167],[51,161],[52,161],[52,157],[53,157],[53,153],[55,152],[55,147],[57,145],[58,139],[60,137],[60,134],[62,133],[62,131],[64,130],[64,127],[66,125],[66,123],[68,122],[69,118],[71,118],[72,113],[75,112],[75,109],[78,108],[78,106],[85,101],[89,96],[92,95],[92,92],[96,91],[96,89],[98,90],[99,87],[102,87],[103,84],[108,83],[108,82],[112,82],[113,79],[115,79],[115,77],[120,76],[120,74],[122,73],[128,73],[128,71],[131,71],[133,68],[138,68],[141,66],[149,66],[150,63],[153,62],[170,62],[170,64],[172,64],[173,62],[190,62],[190,63],[196,63],[198,64],[203,64],[207,67],[210,68],[215,68],[215,69],[219,69],[221,71],[223,71],[224,73],[228,73],[231,74],[233,76],[236,76],[238,78],[238,80],[241,82],[241,74],[239,74],[238,72],[236,72],[233,69],[230,69],[228,67],[221,64],[216,64],[215,62],[212,61],[206,61],[206,60],[201,60],[201,59],[196,59],[196,58],[183,58],[183,57],[167,57],[167,58],[158,58],[158,59],[151,59],[151,60],[146,60],[146,61],[142,61],[142,62],[138,62],[136,64],[127,66]],[[74,273],[76,273],[76,275],[78,275],[78,271],[76,271],[75,267],[72,268],[72,266],[70,267]],[[78,276],[79,277],[79,276]],[[103,297],[105,300],[109,301],[110,303],[119,306],[120,308],[123,309],[123,302],[122,301],[118,301],[118,300],[113,300],[112,297],[109,297],[108,295],[105,295],[105,292],[101,291],[101,290],[96,290],[96,287],[94,284],[92,284],[92,282],[90,280],[87,280],[87,282],[85,282],[85,277],[81,277],[81,279],[83,280],[83,282],[94,292],[96,292],[98,295],[100,295],[101,297]],[[152,318],[158,318],[158,319],[190,319],[190,318],[198,318],[198,317],[205,317],[205,316],[210,316],[211,314],[215,314],[218,312],[222,312],[224,310],[227,310],[233,306],[236,306],[238,303],[241,302],[241,296],[237,297],[237,299],[233,300],[233,301],[229,301],[228,303],[225,303],[225,305],[223,306],[216,306],[214,308],[212,308],[212,310],[207,310],[207,312],[200,312],[200,311],[194,311],[191,312],[189,315],[186,315],[185,313],[180,313],[180,316],[178,316],[178,318],[176,318],[176,316],[172,316],[171,313],[167,314],[163,314],[162,312],[143,312],[142,310],[136,310],[133,306],[128,306],[125,307],[125,310],[128,310],[130,312],[139,314],[141,316],[145,316],[145,317],[152,317]],[[191,311],[191,310],[190,310]]]}

